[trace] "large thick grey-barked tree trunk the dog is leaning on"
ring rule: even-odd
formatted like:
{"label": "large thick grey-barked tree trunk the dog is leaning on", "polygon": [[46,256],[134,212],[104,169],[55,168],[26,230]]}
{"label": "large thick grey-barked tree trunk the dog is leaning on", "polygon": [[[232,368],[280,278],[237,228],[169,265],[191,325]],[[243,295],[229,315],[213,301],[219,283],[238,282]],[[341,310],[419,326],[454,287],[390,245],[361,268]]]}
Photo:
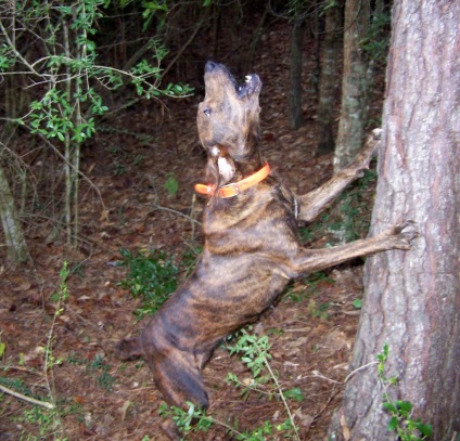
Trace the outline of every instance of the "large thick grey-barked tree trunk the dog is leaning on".
{"label": "large thick grey-barked tree trunk the dog is leaning on", "polygon": [[[460,432],[460,2],[396,0],[387,66],[383,151],[373,234],[413,219],[413,250],[368,259],[350,369],[389,348],[387,392],[433,425],[430,440]],[[348,381],[331,425],[335,440],[395,440],[374,366]]]}

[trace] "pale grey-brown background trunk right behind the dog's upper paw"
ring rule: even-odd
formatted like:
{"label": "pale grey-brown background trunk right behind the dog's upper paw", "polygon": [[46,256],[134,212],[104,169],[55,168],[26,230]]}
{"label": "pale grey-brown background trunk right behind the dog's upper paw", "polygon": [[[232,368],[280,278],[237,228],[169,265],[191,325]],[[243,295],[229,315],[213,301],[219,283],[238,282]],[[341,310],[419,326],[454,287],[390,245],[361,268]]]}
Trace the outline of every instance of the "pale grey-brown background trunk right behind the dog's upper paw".
{"label": "pale grey-brown background trunk right behind the dog's upper paw", "polygon": [[346,0],[342,106],[334,172],[352,161],[365,139],[367,61],[360,43],[369,31],[369,0]]}

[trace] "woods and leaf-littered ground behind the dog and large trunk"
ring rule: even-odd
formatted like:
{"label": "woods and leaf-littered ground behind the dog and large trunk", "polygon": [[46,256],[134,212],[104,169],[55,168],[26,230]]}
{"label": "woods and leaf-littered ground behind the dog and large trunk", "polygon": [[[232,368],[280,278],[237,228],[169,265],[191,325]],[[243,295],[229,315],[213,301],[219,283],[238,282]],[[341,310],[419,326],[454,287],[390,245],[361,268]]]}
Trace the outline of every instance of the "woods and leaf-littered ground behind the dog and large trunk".
{"label": "woods and leaf-littered ground behind the dog and large trunk", "polygon": [[[56,404],[4,394],[7,436],[161,439],[149,369],[111,348],[200,255],[205,62],[239,81],[260,76],[263,154],[305,193],[381,124],[389,10],[384,0],[0,5],[0,386]],[[366,174],[335,212],[301,229],[306,245],[366,235],[374,182]],[[301,439],[320,439],[340,403],[362,289],[355,263],[293,284],[257,328],[270,335]],[[248,381],[219,348],[205,371],[217,419],[292,434],[276,394],[229,385],[228,373]],[[213,430],[201,439],[226,439]]]}

